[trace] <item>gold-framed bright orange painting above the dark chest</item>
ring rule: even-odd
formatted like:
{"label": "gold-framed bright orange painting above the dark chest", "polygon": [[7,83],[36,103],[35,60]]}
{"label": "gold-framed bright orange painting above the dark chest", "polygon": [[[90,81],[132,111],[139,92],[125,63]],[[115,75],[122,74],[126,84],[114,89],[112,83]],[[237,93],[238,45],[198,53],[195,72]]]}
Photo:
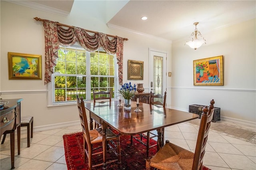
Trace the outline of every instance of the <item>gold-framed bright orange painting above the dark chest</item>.
{"label": "gold-framed bright orange painting above the dark chest", "polygon": [[194,85],[223,85],[223,55],[194,60]]}

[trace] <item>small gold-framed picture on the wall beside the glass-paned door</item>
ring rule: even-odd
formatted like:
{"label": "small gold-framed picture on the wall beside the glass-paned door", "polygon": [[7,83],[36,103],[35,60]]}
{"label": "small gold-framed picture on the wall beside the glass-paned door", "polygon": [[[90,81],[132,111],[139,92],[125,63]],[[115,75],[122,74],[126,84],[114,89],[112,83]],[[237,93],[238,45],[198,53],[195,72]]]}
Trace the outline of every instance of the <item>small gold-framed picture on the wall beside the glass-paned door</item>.
{"label": "small gold-framed picture on the wall beside the glass-paned door", "polygon": [[143,80],[144,61],[128,59],[128,80]]}

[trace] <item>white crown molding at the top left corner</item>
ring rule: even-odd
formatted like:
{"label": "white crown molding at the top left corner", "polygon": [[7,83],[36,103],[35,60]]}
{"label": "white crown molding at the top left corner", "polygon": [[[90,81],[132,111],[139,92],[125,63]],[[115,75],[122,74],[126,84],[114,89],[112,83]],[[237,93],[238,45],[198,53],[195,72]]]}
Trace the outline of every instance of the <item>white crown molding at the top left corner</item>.
{"label": "white crown molding at the top left corner", "polygon": [[60,16],[67,17],[70,14],[70,12],[66,12],[66,11],[59,10],[59,9],[56,9],[56,8],[52,8],[52,7],[45,6],[45,5],[41,5],[41,4],[38,4],[38,3],[35,3],[35,2],[30,2],[28,0],[6,0],[6,1],[11,2],[13,4],[18,4],[18,5],[26,6],[26,7],[29,7],[29,8],[34,8],[34,9],[37,9],[37,10],[41,10],[41,11],[44,11],[44,12],[57,14],[57,15],[60,15]]}

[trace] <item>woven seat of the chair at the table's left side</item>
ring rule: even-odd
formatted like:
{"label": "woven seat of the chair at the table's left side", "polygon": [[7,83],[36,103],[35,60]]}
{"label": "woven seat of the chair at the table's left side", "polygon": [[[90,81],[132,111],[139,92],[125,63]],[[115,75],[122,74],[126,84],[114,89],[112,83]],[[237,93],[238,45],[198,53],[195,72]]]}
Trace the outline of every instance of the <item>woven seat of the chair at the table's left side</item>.
{"label": "woven seat of the chair at the table's left side", "polygon": [[[90,130],[89,132],[90,132],[90,140],[92,144],[102,142],[102,128],[93,129],[93,130]],[[107,135],[107,140],[109,138],[116,137],[116,134],[114,134],[108,128],[106,129],[106,135]]]}

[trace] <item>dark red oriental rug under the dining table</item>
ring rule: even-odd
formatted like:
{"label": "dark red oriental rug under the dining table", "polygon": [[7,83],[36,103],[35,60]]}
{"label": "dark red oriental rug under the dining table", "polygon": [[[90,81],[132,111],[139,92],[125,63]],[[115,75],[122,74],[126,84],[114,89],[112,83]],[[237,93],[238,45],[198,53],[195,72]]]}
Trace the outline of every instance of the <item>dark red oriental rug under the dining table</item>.
{"label": "dark red oriental rug under the dining table", "polygon": [[[83,136],[82,132],[73,134],[64,134],[64,150],[68,170],[88,170],[88,159],[84,161],[83,152]],[[156,144],[156,141],[150,139],[150,144]],[[146,146],[142,145],[140,142],[133,140],[132,146],[130,145],[130,136],[121,135],[120,136],[121,145],[121,159],[122,159],[122,169],[125,170],[144,170],[146,164]],[[96,146],[95,146],[96,147]],[[150,148],[149,156],[152,157],[156,154],[156,146]],[[112,158],[111,153],[107,154],[108,158]],[[115,156],[113,154],[113,156]],[[93,156],[93,163],[103,162],[102,154]],[[117,162],[108,164],[108,170],[118,169]],[[102,169],[101,166],[97,170]],[[203,166],[203,170],[210,170]]]}

